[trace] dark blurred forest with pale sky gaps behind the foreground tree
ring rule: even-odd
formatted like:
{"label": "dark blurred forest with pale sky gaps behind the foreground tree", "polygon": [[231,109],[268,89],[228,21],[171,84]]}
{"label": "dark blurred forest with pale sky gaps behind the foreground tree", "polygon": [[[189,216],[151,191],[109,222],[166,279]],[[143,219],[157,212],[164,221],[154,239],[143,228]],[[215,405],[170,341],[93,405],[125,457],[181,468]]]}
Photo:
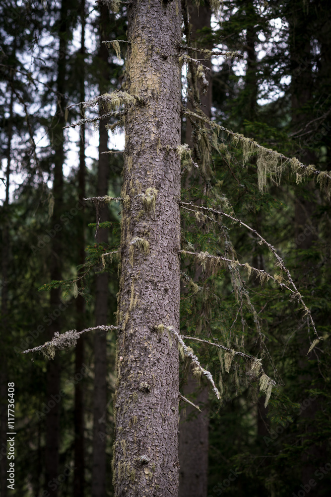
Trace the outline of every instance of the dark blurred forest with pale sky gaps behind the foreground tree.
{"label": "dark blurred forest with pale sky gaps behind the foreground tree", "polygon": [[[22,352],[56,332],[116,323],[117,261],[102,255],[118,247],[120,203],[83,198],[121,195],[123,153],[104,154],[123,149],[121,122],[110,116],[99,125],[96,108],[66,109],[123,84],[126,45],[119,51],[117,43],[103,43],[126,40],[126,2],[118,9],[114,3],[119,2],[4,0],[0,5],[3,497],[46,496],[46,489],[59,497],[113,495],[116,333],[85,333],[76,348],[54,359],[34,354],[31,360]],[[211,14],[208,2],[201,2],[199,11],[195,3],[188,7],[192,43],[228,53],[215,55],[211,64],[202,61],[209,83],[205,94],[203,78],[198,83],[204,113],[286,157],[330,170],[328,2],[224,1],[218,15]],[[187,109],[196,73],[183,60]],[[85,117],[91,124],[64,129]],[[182,333],[230,348],[234,340],[238,350],[262,359],[275,387],[265,407],[252,369],[229,361],[217,347],[190,342],[217,380],[222,399],[208,394],[203,381],[198,386],[183,363],[181,393],[203,414],[181,403],[180,496],[327,496],[328,191],[321,177],[320,185],[290,168],[281,179],[279,171],[273,179],[268,174],[261,188],[256,155],[243,167],[240,143],[226,133],[221,138],[203,165],[195,128],[183,114],[182,143],[192,149],[191,156],[183,154],[184,198],[235,216],[275,247],[323,341],[307,354],[315,338],[308,316],[277,285],[286,278],[255,233],[229,225],[232,245],[226,252],[206,218],[196,215],[193,223],[183,211],[182,248],[230,254],[276,277],[261,284],[250,266],[235,274],[225,268],[208,272],[183,258]],[[200,176],[192,163],[199,164]],[[9,382],[15,385],[14,491],[6,483]]]}

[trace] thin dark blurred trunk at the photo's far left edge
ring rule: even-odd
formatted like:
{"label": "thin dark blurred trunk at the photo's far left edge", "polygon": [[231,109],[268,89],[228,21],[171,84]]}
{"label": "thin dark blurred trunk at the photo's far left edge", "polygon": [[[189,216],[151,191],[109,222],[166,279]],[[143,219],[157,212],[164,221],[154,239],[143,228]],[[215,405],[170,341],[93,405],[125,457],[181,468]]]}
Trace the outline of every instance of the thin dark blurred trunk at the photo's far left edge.
{"label": "thin dark blurred trunk at the photo's far left edge", "polygon": [[[8,327],[8,267],[9,267],[9,248],[10,248],[10,240],[9,240],[9,179],[10,179],[10,160],[11,160],[11,140],[12,140],[12,118],[13,118],[13,89],[11,88],[10,92],[10,101],[9,101],[9,119],[8,119],[8,142],[7,142],[7,151],[6,151],[6,159],[7,159],[7,168],[6,168],[6,193],[5,199],[2,206],[2,248],[1,248],[1,334],[0,334],[0,454],[2,457],[1,462],[1,496],[7,496],[7,459],[6,459],[6,447],[7,447],[7,393],[8,393],[8,372],[7,372],[7,355],[6,355],[6,342],[4,336],[4,330],[7,330]],[[13,379],[10,379],[13,381]],[[9,467],[9,466],[8,466]]]}

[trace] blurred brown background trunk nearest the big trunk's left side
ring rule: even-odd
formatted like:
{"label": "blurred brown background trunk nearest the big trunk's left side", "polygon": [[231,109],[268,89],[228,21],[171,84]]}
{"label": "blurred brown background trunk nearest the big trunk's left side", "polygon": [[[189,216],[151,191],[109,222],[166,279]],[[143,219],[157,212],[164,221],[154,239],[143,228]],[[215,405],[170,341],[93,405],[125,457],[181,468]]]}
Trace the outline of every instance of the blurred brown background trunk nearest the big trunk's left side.
{"label": "blurred brown background trunk nearest the big trunk's left side", "polygon": [[[105,5],[100,8],[100,47],[99,60],[102,64],[100,94],[107,91],[104,82],[107,81],[108,50],[102,42],[105,36],[108,9]],[[100,109],[101,113],[103,112]],[[108,150],[108,131],[105,122],[99,125],[99,167],[97,195],[108,193],[109,156],[102,154]],[[99,205],[100,222],[109,220],[106,204]],[[98,220],[97,220],[98,222]],[[108,243],[108,229],[100,228],[97,232],[98,243]],[[103,272],[96,276],[95,325],[107,325],[108,314],[108,274]],[[94,335],[94,393],[93,393],[93,468],[92,468],[92,497],[106,496],[106,409],[107,409],[107,340],[105,332],[95,332]]]}

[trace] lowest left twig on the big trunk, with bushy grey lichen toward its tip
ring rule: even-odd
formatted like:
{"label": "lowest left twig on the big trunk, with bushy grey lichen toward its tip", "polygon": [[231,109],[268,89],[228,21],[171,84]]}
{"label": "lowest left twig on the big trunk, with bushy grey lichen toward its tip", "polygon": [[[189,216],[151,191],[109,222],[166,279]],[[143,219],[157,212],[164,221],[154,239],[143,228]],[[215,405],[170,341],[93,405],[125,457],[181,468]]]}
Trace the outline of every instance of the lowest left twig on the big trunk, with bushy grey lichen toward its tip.
{"label": "lowest left twig on the big trunk, with bushy grey lichen toward its tip", "polygon": [[44,356],[49,359],[54,359],[56,350],[64,350],[71,346],[75,346],[81,334],[86,333],[87,331],[94,331],[94,330],[109,331],[109,330],[121,330],[121,328],[119,326],[99,325],[99,326],[94,326],[93,328],[86,328],[85,330],[82,331],[69,330],[62,334],[56,332],[51,341],[48,341],[43,345],[39,345],[38,347],[24,350],[22,354],[27,354],[28,352],[39,352],[43,353]]}

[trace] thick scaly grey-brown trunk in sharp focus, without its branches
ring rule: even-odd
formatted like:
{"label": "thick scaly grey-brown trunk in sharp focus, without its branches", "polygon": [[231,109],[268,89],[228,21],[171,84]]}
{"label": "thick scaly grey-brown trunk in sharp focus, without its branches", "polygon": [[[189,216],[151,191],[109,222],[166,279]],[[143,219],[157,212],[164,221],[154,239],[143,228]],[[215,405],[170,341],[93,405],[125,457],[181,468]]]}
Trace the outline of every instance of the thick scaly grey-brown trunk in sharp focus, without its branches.
{"label": "thick scaly grey-brown trunk in sharp focus, without its branches", "polygon": [[181,71],[170,54],[178,54],[181,19],[177,1],[128,5],[126,85],[143,103],[130,105],[125,123],[117,497],[178,494],[179,356],[171,331],[155,327],[179,330]]}

